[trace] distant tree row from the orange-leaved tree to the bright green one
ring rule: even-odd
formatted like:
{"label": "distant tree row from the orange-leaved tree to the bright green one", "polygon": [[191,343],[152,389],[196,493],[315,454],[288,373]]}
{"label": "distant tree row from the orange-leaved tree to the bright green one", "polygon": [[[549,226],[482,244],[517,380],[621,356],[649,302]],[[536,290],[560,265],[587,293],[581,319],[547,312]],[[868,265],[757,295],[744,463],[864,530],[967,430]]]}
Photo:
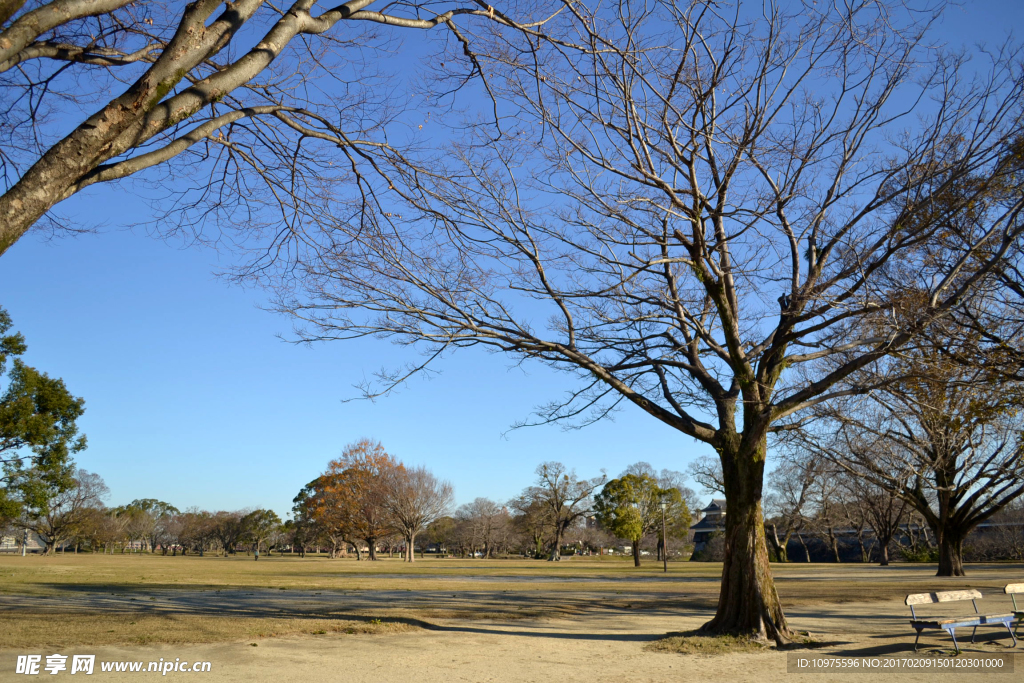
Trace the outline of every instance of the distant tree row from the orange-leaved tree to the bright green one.
{"label": "distant tree row from the orange-leaved tree to the bright green one", "polygon": [[[379,441],[347,445],[338,460],[295,497],[286,527],[300,552],[326,548],[331,557],[353,552],[375,560],[396,550],[413,561],[417,548],[461,557],[519,555],[558,560],[565,552],[641,546],[660,529],[685,541],[693,492],[678,472],[656,474],[637,463],[617,479],[579,477],[561,463],[536,471],[535,483],[510,501],[477,498],[452,510],[452,490],[426,470],[410,469]],[[662,547],[655,548],[660,557]]]}

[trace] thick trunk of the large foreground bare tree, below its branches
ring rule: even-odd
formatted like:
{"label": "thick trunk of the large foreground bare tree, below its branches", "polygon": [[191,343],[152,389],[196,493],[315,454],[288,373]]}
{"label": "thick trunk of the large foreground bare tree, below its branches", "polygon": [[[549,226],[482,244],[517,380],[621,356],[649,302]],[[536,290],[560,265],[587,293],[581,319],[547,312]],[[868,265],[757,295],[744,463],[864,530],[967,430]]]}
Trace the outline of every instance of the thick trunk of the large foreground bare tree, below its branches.
{"label": "thick trunk of the large foreground bare tree, below its branches", "polygon": [[750,635],[784,644],[791,637],[768,562],[761,495],[767,439],[720,452],[725,500],[725,558],[718,611],[700,631]]}

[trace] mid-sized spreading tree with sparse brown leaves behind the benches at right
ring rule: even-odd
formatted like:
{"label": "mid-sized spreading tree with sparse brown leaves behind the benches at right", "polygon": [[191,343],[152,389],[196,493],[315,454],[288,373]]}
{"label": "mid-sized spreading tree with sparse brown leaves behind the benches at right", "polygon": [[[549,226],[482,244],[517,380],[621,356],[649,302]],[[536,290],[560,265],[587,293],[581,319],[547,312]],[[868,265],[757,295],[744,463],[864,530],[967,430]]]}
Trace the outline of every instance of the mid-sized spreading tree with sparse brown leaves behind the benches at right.
{"label": "mid-sized spreading tree with sparse brown leaves behind the benches at right", "polygon": [[881,384],[892,374],[901,379],[870,395],[816,407],[816,420],[792,438],[905,501],[938,542],[938,575],[962,577],[971,529],[1024,495],[1021,387],[952,362],[931,343],[871,375]]}

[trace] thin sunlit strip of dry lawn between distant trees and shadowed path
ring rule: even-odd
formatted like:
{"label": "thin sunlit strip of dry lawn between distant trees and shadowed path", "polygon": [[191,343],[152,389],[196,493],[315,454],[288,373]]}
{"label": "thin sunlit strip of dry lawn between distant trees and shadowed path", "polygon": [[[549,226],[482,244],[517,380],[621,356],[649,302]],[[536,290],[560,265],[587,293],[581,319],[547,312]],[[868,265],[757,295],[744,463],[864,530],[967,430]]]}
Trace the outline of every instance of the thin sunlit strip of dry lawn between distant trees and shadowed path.
{"label": "thin sunlit strip of dry lawn between distant trees and shadowed path", "polygon": [[[1016,570],[1015,570],[1016,569]],[[936,579],[934,565],[772,564],[783,599],[848,602],[887,600],[941,585],[1002,588],[1006,577],[1020,577],[1020,564],[972,565],[966,578]],[[417,558],[407,563],[384,557],[377,562],[354,558],[300,559],[291,555],[170,557],[137,554],[0,555],[0,595],[56,595],[66,592],[150,593],[155,590],[213,591],[227,588],[307,591],[577,591],[687,593],[717,596],[721,564],[662,564],[647,560],[634,567],[632,558],[579,557],[561,562],[539,560],[473,560]],[[837,583],[839,582],[839,583]],[[1001,583],[1000,583],[1001,582]],[[869,587],[869,592],[864,591]],[[944,589],[945,590],[945,589]]]}

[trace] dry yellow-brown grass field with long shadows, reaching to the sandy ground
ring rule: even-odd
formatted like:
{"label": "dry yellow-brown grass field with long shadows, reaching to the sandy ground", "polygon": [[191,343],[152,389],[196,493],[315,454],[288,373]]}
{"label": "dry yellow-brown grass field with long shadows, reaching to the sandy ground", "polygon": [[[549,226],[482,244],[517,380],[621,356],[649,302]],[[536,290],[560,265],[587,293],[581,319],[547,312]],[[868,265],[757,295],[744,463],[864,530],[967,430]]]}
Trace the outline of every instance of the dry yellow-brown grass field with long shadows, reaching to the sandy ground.
{"label": "dry yellow-brown grass field with long shadows, reaching to the sandy ground", "polygon": [[[1020,564],[971,566],[962,579],[897,564],[773,565],[787,609],[814,613],[907,593],[1024,579]],[[210,643],[304,634],[386,634],[435,620],[543,620],[629,613],[710,614],[721,566],[628,558],[472,560],[412,565],[324,557],[0,556],[0,648]],[[886,606],[885,609],[890,609]]]}

